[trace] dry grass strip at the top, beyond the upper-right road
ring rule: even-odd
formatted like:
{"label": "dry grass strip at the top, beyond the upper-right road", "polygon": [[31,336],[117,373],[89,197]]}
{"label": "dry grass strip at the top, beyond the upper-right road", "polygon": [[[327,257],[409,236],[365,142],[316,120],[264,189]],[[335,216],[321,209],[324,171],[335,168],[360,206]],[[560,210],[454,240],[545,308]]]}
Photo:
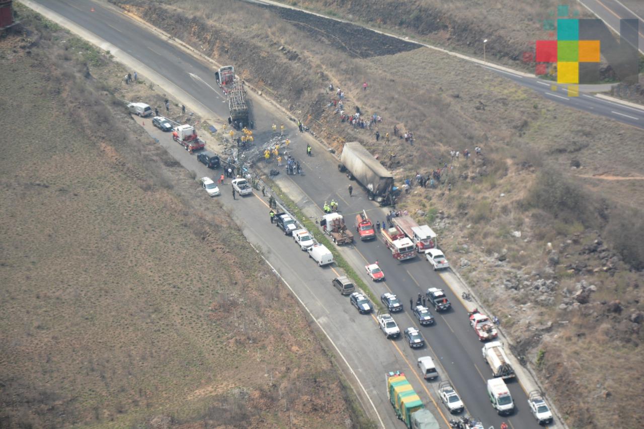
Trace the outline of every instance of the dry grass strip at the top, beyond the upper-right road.
{"label": "dry grass strip at the top, beyond the upper-right road", "polygon": [[459,52],[494,61],[533,68],[524,53],[534,52],[535,41],[547,37],[544,21],[556,19],[558,6],[569,6],[572,17],[594,17],[576,1],[561,0],[375,0],[369,7],[359,0],[281,1],[372,28],[393,30]]}

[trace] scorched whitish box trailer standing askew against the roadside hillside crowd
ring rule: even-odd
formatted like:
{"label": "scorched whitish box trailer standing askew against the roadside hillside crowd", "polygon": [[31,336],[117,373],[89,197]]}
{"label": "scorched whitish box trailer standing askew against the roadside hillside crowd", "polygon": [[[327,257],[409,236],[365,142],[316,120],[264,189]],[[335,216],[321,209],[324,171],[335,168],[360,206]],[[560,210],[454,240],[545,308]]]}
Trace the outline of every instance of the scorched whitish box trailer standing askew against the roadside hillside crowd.
{"label": "scorched whitish box trailer standing askew against the roadside hillside crowd", "polygon": [[359,142],[346,142],[338,169],[366,187],[370,200],[380,205],[395,203],[393,175]]}

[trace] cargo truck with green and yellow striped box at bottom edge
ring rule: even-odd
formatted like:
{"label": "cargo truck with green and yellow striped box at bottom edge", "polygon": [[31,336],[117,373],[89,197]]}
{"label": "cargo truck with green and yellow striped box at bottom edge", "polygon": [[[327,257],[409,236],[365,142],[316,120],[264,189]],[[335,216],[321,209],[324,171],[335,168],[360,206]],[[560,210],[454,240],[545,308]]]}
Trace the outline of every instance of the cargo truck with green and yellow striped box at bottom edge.
{"label": "cargo truck with green and yellow striped box at bottom edge", "polygon": [[407,378],[400,371],[386,374],[387,396],[393,410],[410,429],[440,429],[434,416],[422,404]]}

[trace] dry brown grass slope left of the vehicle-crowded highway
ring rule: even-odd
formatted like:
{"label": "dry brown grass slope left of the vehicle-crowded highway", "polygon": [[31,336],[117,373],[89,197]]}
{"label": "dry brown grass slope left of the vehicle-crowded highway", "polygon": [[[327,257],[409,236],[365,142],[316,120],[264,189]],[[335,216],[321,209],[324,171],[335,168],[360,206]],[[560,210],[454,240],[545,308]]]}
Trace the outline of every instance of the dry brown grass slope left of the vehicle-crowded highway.
{"label": "dry brown grass slope left of the vehicle-crowded highway", "polygon": [[0,37],[0,427],[361,426],[296,301],[110,93],[162,95],[19,14]]}

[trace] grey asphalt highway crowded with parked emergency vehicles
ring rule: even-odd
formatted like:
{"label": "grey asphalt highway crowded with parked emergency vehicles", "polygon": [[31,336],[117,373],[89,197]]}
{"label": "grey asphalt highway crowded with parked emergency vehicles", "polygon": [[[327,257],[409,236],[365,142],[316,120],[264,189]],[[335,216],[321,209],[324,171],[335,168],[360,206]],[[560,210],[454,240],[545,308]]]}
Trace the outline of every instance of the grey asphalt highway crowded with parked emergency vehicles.
{"label": "grey asphalt highway crowded with parked emergency vehicles", "polygon": [[[190,101],[196,100],[201,110],[205,108],[213,113],[211,117],[227,117],[227,106],[222,103],[223,97],[213,90],[216,88],[213,66],[195,59],[176,44],[169,43],[159,37],[158,33],[149,31],[146,26],[111,6],[82,0],[40,0],[37,3],[66,17],[84,32],[92,33],[93,42],[104,41],[129,55],[128,58],[134,61],[132,64],[145,65],[147,69],[155,70],[164,82],[174,85],[173,91],[176,92],[176,88],[180,88],[180,91],[185,93],[185,104],[189,108]],[[93,12],[90,12],[90,7],[94,9]],[[119,58],[118,52],[113,53]],[[140,72],[139,75],[144,76],[144,73]],[[159,84],[164,87],[163,82]],[[267,103],[254,99],[254,106],[256,143],[269,138],[270,124],[283,122],[289,125],[288,135],[292,140],[292,153],[303,162],[305,175],[281,174],[276,182],[305,213],[320,216],[322,212],[319,206],[324,201],[334,198],[339,201],[340,209],[346,214],[350,225],[353,224],[352,216],[362,209],[367,209],[374,220],[384,220],[384,211],[368,201],[365,193],[357,189],[357,186],[354,186],[354,196],[349,198],[347,187],[350,182],[345,175],[337,171],[337,159],[327,153],[323,146],[317,144],[310,136],[298,133],[292,122],[279,111],[267,108]],[[151,128],[149,120],[146,120],[146,129],[160,140],[160,144],[166,147],[182,166],[196,171],[198,177],[217,174],[199,164],[196,157],[185,152],[169,135],[162,135],[160,131]],[[304,156],[307,142],[314,148],[314,157]],[[207,198],[205,191],[202,198]],[[403,427],[388,404],[384,384],[385,372],[403,370],[443,427],[447,426],[446,420],[450,416],[444,406],[439,404],[435,408],[433,401],[438,401],[435,394],[438,382],[448,376],[462,396],[467,414],[481,419],[486,428],[491,425],[498,428],[502,421],[509,423],[513,429],[539,427],[527,410],[526,393],[520,383],[509,384],[511,394],[515,398],[515,414],[502,419],[491,408],[485,385],[491,371],[482,359],[482,345],[473,330],[469,329],[467,312],[460,303],[460,298],[450,291],[444,281],[444,278],[450,282],[455,281],[453,274],[436,274],[421,258],[410,262],[397,262],[380,240],[370,243],[357,242],[354,246],[342,249],[343,255],[355,270],[361,273],[364,272],[366,262],[379,261],[387,281],[373,284],[372,289],[377,295],[384,291],[399,294],[405,311],[394,317],[401,330],[416,325],[408,308],[410,297],[424,292],[428,287],[446,290],[454,304],[453,310],[446,314],[435,314],[436,324],[421,328],[429,347],[412,351],[403,339],[385,339],[377,329],[373,316],[359,315],[349,305],[348,298],[340,296],[330,287],[330,280],[337,275],[336,269],[316,267],[292,242],[292,238],[284,236],[270,225],[265,200],[266,198],[253,195],[233,201],[229,187],[223,187],[222,195],[217,197],[213,204],[223,204],[230,209],[249,242],[261,249],[267,262],[292,288],[314,319],[314,327],[319,327],[326,334],[331,343],[330,351],[336,356],[336,360],[340,365],[344,363],[348,371],[355,376],[355,380],[350,377],[348,379],[354,384],[366,412],[380,426]],[[447,256],[450,257],[449,254]],[[368,281],[366,274],[363,273],[363,276]],[[440,363],[440,377],[431,383],[423,381],[415,370],[415,359],[426,354],[434,356],[437,363]]]}

